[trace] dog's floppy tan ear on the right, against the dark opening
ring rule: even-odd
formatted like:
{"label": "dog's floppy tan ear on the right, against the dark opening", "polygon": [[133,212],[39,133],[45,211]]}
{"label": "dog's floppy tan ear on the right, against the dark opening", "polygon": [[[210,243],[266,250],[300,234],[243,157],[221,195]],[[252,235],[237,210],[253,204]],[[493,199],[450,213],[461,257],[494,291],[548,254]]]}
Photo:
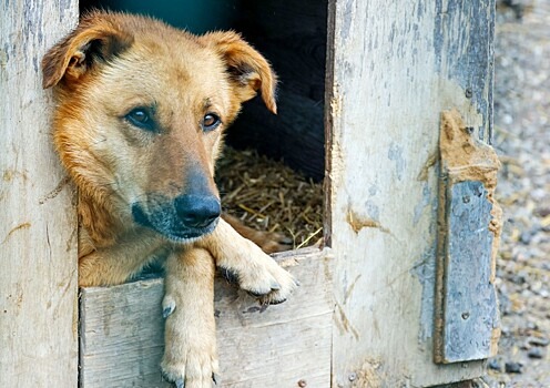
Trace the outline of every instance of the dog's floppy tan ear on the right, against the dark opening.
{"label": "dog's floppy tan ear on the right, against the dark opening", "polygon": [[213,45],[224,60],[231,82],[241,102],[251,100],[259,90],[267,109],[277,113],[275,102],[277,76],[259,52],[233,31],[211,32],[203,35],[202,39],[208,45]]}

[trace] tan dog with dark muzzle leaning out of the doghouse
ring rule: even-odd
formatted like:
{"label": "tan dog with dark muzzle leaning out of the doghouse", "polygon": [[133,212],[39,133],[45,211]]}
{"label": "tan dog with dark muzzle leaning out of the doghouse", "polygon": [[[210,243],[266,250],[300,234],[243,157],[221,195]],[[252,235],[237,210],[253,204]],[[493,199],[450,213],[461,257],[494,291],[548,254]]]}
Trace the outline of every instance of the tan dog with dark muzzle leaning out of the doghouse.
{"label": "tan dog with dark muzzle leaning out of the doghouse", "polygon": [[193,35],[106,11],[84,16],[47,52],[42,73],[55,99],[53,142],[79,193],[79,285],[121,284],[165,256],[162,374],[177,387],[211,387],[215,268],[262,304],[297,285],[221,216],[213,180],[242,103],[259,92],[276,113],[276,75],[235,32]]}

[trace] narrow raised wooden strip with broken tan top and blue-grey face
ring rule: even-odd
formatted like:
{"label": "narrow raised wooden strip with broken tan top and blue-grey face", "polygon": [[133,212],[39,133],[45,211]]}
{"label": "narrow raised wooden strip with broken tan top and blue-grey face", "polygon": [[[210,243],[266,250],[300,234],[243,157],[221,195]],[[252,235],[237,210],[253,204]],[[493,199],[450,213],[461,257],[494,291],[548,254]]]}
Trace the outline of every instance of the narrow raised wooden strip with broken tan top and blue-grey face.
{"label": "narrow raised wooden strip with broken tan top and blue-grey face", "polygon": [[435,360],[483,359],[495,356],[500,336],[495,289],[500,162],[457,111],[441,114],[439,149]]}

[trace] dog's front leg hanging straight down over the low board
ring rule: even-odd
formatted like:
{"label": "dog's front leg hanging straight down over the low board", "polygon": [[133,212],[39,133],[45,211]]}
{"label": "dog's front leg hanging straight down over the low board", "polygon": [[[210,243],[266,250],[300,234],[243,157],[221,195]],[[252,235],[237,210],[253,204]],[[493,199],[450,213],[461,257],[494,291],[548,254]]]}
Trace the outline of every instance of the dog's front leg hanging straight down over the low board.
{"label": "dog's front leg hanging straight down over the low board", "polygon": [[182,248],[165,264],[164,377],[176,387],[211,388],[218,370],[214,319],[214,258]]}

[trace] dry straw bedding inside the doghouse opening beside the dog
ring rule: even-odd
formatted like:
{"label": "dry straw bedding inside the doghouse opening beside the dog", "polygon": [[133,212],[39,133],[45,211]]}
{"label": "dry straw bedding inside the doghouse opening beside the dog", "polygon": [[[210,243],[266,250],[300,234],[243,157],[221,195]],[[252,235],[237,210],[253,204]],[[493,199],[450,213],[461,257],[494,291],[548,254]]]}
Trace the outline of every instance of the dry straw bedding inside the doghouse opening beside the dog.
{"label": "dry straw bedding inside the doghouse opening beside the dog", "polygon": [[278,232],[293,247],[323,237],[323,185],[256,151],[225,147],[216,182],[224,211],[258,231]]}

